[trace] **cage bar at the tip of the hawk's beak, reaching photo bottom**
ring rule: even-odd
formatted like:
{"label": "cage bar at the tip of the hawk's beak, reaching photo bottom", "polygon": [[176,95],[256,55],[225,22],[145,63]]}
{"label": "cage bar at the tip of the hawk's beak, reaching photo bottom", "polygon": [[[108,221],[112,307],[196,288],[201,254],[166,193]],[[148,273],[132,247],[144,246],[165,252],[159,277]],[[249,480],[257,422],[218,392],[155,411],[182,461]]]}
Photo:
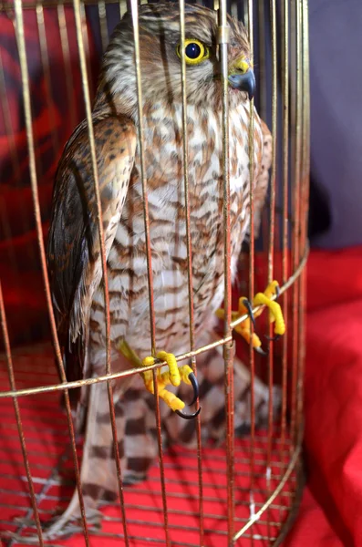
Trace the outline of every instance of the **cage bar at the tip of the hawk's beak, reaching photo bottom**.
{"label": "cage bar at the tip of the hawk's beak, reaching photo bottom", "polygon": [[[250,56],[253,59],[253,0],[247,0],[247,29],[249,35]],[[250,101],[250,121],[249,121],[249,203],[250,203],[250,243],[249,243],[249,300],[253,302],[254,294],[254,260],[255,260],[255,242],[254,242],[254,147],[253,147],[253,98]],[[250,322],[250,336],[253,337],[253,322]],[[255,361],[253,353],[253,344],[249,345],[249,363],[250,363],[250,518],[252,519],[255,514],[255,500],[254,500],[254,487],[255,487]],[[250,542],[253,546],[253,527],[250,533]]]}

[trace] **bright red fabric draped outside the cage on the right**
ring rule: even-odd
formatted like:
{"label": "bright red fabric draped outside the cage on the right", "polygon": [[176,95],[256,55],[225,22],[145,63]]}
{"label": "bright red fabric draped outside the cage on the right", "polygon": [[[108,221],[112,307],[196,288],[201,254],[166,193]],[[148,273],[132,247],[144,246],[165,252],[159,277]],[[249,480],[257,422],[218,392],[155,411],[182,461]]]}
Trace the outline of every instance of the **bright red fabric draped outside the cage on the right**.
{"label": "bright red fabric draped outside the cage on the right", "polygon": [[286,545],[359,547],[362,545],[360,247],[311,253],[308,309],[305,454],[309,489]]}

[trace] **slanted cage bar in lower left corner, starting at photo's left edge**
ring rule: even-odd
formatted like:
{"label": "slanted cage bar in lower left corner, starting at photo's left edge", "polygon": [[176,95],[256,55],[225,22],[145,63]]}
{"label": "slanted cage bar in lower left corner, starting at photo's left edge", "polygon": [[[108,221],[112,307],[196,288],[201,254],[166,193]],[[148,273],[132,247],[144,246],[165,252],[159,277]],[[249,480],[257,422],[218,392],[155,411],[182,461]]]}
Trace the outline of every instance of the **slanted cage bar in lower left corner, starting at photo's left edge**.
{"label": "slanted cage bar in lower left corner, starting at photo's left edge", "polygon": [[[16,391],[16,380],[15,380],[15,376],[14,376],[14,367],[13,367],[13,359],[12,359],[12,356],[11,356],[10,340],[9,340],[9,335],[8,335],[8,331],[7,331],[5,305],[4,305],[4,297],[3,297],[3,288],[2,288],[1,282],[0,282],[0,320],[1,320],[1,330],[2,330],[2,333],[3,333],[4,346],[5,346],[7,375],[9,377],[9,383],[10,383],[11,390]],[[36,533],[37,533],[37,537],[39,539],[39,545],[40,545],[40,547],[43,547],[43,545],[44,545],[43,532],[42,532],[42,529],[41,529],[39,512],[37,510],[37,505],[36,505],[36,493],[35,493],[35,490],[34,490],[34,484],[33,484],[33,478],[32,478],[32,475],[31,475],[29,459],[27,458],[26,439],[24,437],[23,425],[22,425],[20,408],[19,408],[19,403],[17,401],[17,397],[13,397],[13,405],[14,405],[14,410],[15,410],[15,413],[16,413],[17,433],[18,433],[18,436],[19,436],[21,451],[22,451],[22,454],[23,454],[24,466],[26,468],[27,485],[29,487],[31,505],[32,505],[33,512],[34,512],[34,518],[35,518],[35,521],[36,521]]]}

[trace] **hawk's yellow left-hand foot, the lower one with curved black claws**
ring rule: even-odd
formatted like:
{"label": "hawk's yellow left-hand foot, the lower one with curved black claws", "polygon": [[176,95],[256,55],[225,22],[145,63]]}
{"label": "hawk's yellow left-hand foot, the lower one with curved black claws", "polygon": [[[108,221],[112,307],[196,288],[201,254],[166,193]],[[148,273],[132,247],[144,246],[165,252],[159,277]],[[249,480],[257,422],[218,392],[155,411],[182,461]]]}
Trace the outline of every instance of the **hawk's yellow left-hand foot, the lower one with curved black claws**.
{"label": "hawk's yellow left-hand foot, the lower one with curved black claws", "polygon": [[[169,366],[169,370],[166,372],[161,373],[160,368],[156,371],[157,391],[159,397],[165,401],[166,405],[168,405],[171,410],[176,412],[176,414],[182,418],[196,418],[196,416],[200,413],[200,407],[194,414],[184,414],[181,410],[185,407],[185,403],[181,401],[179,397],[176,397],[173,393],[171,393],[171,391],[166,389],[166,387],[170,384],[172,386],[180,386],[181,381],[185,384],[189,384],[189,386],[193,387],[193,400],[191,401],[191,405],[193,405],[196,402],[197,397],[199,397],[199,385],[191,367],[184,365],[179,368],[177,366],[176,357],[173,354],[166,353],[165,351],[160,351],[156,358],[160,361],[166,361]],[[150,366],[153,365],[155,361],[156,359],[154,357],[145,357],[142,361],[142,365]],[[142,377],[146,389],[148,389],[150,393],[154,393],[155,389],[153,385],[152,370],[143,372]]]}

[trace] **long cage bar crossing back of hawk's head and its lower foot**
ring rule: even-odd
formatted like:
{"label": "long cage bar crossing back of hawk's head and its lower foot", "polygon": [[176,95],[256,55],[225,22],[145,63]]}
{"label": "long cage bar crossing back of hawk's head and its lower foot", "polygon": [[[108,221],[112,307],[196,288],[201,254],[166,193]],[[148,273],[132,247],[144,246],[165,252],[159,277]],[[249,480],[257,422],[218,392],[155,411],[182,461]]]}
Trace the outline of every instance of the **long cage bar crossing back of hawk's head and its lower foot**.
{"label": "long cage bar crossing back of hawk's head and its lower foot", "polygon": [[[146,259],[147,259],[147,279],[149,288],[149,311],[150,311],[150,343],[152,356],[156,356],[156,325],[155,325],[155,311],[154,311],[154,295],[153,295],[153,273],[152,273],[152,253],[150,248],[150,215],[149,215],[149,201],[147,191],[147,180],[145,175],[144,166],[144,153],[143,153],[143,101],[142,101],[142,83],[140,72],[140,28],[139,28],[139,6],[137,0],[130,0],[132,24],[133,24],[133,38],[135,47],[135,66],[136,66],[136,80],[137,80],[137,102],[138,102],[138,137],[139,137],[139,150],[140,150],[140,177],[142,181],[142,194],[143,194],[143,218],[145,225],[145,241],[146,241]],[[163,508],[163,521],[165,530],[165,539],[167,547],[171,547],[170,531],[169,531],[169,516],[167,510],[167,496],[166,496],[166,482],[165,482],[165,470],[163,463],[163,449],[161,438],[161,424],[160,424],[160,400],[157,384],[156,369],[152,370],[152,380],[154,386],[154,397],[156,403],[156,428],[157,428],[157,441],[159,446],[159,463],[160,463],[160,485],[162,490],[162,508]]]}

